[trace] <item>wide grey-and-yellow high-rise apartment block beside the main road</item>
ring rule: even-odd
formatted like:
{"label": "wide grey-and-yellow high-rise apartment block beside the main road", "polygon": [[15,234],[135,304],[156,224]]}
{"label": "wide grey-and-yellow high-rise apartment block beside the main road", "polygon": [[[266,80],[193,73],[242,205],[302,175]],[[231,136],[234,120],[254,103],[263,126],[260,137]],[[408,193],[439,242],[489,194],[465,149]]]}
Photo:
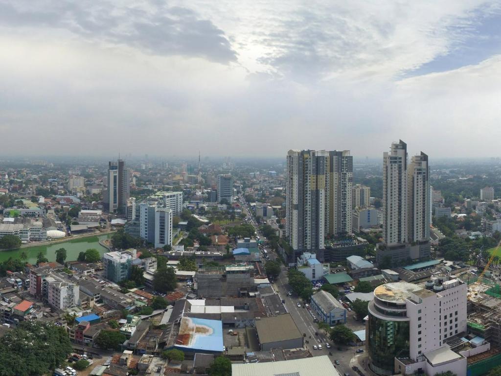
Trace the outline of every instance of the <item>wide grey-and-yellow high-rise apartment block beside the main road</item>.
{"label": "wide grey-and-yellow high-rise apartment block beside the main road", "polygon": [[289,150],[286,236],[295,251],[324,260],[326,235],[352,232],[353,157],[348,150]]}

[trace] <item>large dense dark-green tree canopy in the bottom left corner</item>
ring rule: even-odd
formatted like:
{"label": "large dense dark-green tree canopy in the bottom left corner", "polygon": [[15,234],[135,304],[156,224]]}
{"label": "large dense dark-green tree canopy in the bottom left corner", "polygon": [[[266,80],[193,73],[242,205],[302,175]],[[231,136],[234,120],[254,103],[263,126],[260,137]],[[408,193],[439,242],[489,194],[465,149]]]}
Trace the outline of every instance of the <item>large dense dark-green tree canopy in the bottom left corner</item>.
{"label": "large dense dark-green tree canopy in the bottom left corner", "polygon": [[0,341],[0,375],[49,374],[71,350],[70,339],[63,328],[40,321],[23,321]]}

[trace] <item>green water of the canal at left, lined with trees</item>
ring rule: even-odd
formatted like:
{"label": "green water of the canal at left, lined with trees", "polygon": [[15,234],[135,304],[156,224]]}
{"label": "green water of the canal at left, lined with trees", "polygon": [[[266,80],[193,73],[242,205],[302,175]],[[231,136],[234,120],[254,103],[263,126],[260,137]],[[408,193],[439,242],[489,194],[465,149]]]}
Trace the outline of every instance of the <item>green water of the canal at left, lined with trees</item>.
{"label": "green water of the canal at left, lined with trees", "polygon": [[14,259],[20,258],[24,252],[28,256],[28,262],[34,264],[37,261],[37,255],[42,252],[49,261],[56,261],[56,250],[60,248],[66,249],[66,261],[73,261],[78,258],[80,252],[85,252],[89,248],[95,248],[101,253],[105,253],[107,249],[99,244],[100,240],[109,239],[110,235],[97,235],[81,239],[68,240],[67,242],[46,244],[38,247],[19,248],[10,251],[0,251],[0,262],[8,260],[9,257]]}

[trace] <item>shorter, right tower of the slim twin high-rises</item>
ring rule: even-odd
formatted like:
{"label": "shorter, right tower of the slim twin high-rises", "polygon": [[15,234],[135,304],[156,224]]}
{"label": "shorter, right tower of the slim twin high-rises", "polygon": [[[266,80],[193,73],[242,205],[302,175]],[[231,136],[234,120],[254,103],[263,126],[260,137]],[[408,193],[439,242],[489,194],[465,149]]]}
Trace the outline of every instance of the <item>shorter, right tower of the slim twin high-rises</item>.
{"label": "shorter, right tower of the slim twin high-rises", "polygon": [[409,243],[430,239],[428,155],[414,155],[408,168]]}

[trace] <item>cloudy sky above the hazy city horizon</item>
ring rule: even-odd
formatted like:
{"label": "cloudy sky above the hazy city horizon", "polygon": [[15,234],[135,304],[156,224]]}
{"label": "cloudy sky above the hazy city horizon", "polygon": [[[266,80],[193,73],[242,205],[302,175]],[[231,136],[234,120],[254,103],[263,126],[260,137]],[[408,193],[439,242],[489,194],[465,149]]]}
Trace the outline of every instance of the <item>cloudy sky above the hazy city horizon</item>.
{"label": "cloudy sky above the hazy city horizon", "polygon": [[0,153],[501,156],[501,0],[0,0]]}

